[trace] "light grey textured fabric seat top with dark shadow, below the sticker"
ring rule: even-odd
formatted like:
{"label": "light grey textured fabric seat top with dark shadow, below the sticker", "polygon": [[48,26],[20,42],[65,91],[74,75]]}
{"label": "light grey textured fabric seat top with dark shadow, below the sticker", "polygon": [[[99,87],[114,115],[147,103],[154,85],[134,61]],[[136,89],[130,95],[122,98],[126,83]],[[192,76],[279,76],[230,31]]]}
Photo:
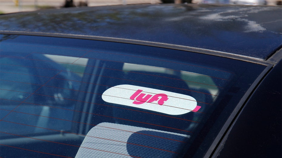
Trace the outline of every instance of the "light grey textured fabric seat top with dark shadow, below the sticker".
{"label": "light grey textured fabric seat top with dark shadow, below the sticker", "polygon": [[103,122],[85,136],[76,158],[178,157],[190,136]]}

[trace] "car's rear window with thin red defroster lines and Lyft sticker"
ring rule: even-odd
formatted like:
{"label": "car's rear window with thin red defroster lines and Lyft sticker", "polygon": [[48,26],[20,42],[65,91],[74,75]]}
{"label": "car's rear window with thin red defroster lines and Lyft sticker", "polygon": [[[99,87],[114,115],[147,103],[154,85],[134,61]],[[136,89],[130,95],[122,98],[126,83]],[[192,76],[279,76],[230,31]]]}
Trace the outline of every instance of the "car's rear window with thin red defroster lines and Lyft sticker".
{"label": "car's rear window with thin red defroster lines and Lyft sticker", "polygon": [[265,66],[1,35],[0,68],[1,157],[193,157],[207,151]]}

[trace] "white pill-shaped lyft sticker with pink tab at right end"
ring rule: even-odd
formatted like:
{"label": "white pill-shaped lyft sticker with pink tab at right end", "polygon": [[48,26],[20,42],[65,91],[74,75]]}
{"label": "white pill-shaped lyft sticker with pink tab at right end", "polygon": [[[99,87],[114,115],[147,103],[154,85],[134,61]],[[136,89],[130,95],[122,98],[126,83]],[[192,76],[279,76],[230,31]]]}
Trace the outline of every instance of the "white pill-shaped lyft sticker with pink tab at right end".
{"label": "white pill-shaped lyft sticker with pink tab at right end", "polygon": [[174,92],[146,88],[136,85],[117,85],[102,94],[105,102],[126,105],[164,114],[180,115],[190,111],[196,112],[195,98]]}

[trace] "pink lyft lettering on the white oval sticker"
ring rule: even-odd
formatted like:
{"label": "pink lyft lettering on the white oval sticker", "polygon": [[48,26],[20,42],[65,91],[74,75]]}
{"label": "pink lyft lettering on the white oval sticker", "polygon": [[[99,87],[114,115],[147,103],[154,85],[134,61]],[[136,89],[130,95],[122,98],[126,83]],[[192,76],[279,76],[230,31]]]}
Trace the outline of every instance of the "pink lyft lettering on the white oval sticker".
{"label": "pink lyft lettering on the white oval sticker", "polygon": [[130,99],[134,100],[133,104],[143,104],[144,102],[154,102],[158,101],[158,105],[163,105],[165,101],[168,100],[168,95],[160,93],[156,95],[150,95],[141,93],[143,90],[138,89],[133,95],[131,95]]}

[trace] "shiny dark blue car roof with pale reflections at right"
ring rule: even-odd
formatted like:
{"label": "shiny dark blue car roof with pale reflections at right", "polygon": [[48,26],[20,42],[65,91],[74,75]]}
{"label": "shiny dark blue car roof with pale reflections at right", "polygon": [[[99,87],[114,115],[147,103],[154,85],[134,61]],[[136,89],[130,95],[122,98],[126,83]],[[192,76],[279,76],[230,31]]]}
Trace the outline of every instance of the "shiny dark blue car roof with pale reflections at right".
{"label": "shiny dark blue car roof with pale reflections at right", "polygon": [[117,5],[1,16],[1,33],[107,40],[267,60],[282,43],[282,8]]}

